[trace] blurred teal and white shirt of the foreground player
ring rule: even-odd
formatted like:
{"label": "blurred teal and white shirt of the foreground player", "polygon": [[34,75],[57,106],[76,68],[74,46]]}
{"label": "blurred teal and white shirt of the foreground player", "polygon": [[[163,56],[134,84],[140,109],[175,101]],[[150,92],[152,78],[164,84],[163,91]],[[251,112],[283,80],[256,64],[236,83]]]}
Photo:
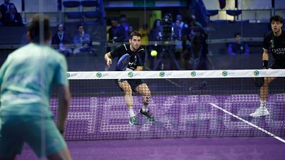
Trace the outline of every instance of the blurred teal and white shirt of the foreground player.
{"label": "blurred teal and white shirt of the foreground player", "polygon": [[52,85],[66,85],[66,58],[49,46],[29,43],[11,53],[0,69],[0,116],[51,117]]}

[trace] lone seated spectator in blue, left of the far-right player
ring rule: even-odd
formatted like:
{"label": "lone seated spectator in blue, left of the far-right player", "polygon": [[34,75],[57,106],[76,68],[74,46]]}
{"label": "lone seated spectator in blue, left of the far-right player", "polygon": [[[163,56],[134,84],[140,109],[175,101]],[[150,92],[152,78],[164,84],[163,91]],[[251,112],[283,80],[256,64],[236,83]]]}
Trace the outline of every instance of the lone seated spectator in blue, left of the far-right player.
{"label": "lone seated spectator in blue, left of the far-right player", "polygon": [[229,55],[247,55],[249,54],[249,46],[247,43],[242,42],[240,33],[234,33],[234,42],[229,44],[228,52]]}

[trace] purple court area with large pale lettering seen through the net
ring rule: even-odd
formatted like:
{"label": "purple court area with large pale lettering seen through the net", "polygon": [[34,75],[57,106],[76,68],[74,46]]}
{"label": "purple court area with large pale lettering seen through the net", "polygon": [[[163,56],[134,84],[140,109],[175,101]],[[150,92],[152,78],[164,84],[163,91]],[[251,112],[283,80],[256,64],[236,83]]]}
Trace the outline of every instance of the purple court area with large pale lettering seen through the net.
{"label": "purple court area with large pale lettering seen through the net", "polygon": [[[134,110],[138,114],[141,97],[134,96]],[[260,131],[232,117],[213,105],[224,108],[238,117],[265,129],[276,136],[284,136],[285,94],[268,97],[266,117],[249,117],[259,106],[258,95],[155,95],[148,108],[155,122],[148,122],[138,114],[138,126],[128,124],[129,113],[125,97],[73,97],[66,122],[67,141],[156,139],[173,137],[266,137]],[[56,99],[51,101],[56,114]]]}

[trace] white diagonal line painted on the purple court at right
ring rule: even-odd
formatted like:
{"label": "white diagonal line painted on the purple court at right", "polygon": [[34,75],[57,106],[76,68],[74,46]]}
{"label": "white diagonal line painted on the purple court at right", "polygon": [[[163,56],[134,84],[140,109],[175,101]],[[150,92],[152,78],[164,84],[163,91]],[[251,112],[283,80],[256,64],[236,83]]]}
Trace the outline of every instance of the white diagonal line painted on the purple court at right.
{"label": "white diagonal line painted on the purple court at right", "polygon": [[222,107],[219,107],[219,106],[215,105],[214,103],[209,103],[209,104],[212,105],[213,107],[216,107],[217,109],[222,110],[223,112],[225,112],[225,113],[231,115],[232,117],[235,117],[235,118],[241,120],[242,122],[245,122],[245,123],[249,124],[250,126],[256,128],[256,129],[259,129],[259,130],[261,130],[262,132],[264,132],[264,133],[266,133],[266,134],[269,134],[269,136],[274,137],[274,138],[278,139],[279,141],[285,143],[285,140],[284,140],[284,139],[281,139],[280,137],[276,136],[275,134],[272,134],[271,132],[268,132],[268,131],[266,131],[265,129],[263,129],[263,128],[261,128],[261,127],[258,127],[257,125],[253,124],[252,122],[248,122],[247,120],[242,119],[241,117],[237,116],[236,114],[232,114],[231,112],[229,112],[229,111],[227,111],[227,110],[224,110]]}

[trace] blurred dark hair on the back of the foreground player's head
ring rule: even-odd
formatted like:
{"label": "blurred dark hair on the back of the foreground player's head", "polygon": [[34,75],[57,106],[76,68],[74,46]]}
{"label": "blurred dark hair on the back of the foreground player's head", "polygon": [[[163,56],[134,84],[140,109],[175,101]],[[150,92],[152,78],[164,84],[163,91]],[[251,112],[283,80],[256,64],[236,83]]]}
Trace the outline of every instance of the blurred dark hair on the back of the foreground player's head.
{"label": "blurred dark hair on the back of the foreground player's head", "polygon": [[40,42],[40,25],[43,23],[43,40],[48,41],[51,38],[51,27],[48,17],[43,14],[35,14],[28,23],[28,32],[31,36],[31,41],[34,43]]}

